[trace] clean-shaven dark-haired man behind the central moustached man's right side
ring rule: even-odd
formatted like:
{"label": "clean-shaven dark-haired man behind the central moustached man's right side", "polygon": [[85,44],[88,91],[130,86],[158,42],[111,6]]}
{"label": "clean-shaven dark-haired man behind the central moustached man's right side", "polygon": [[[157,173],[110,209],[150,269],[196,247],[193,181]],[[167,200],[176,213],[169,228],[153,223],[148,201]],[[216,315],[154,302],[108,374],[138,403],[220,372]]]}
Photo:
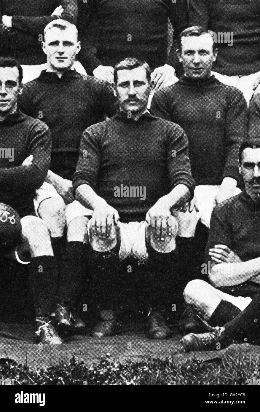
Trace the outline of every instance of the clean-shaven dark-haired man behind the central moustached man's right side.
{"label": "clean-shaven dark-haired man behind the central moustached man's right side", "polygon": [[246,135],[247,107],[241,91],[211,73],[217,49],[203,27],[185,29],[179,40],[185,74],[155,93],[151,109],[187,134],[198,218],[209,226],[213,206],[238,191],[237,157]]}

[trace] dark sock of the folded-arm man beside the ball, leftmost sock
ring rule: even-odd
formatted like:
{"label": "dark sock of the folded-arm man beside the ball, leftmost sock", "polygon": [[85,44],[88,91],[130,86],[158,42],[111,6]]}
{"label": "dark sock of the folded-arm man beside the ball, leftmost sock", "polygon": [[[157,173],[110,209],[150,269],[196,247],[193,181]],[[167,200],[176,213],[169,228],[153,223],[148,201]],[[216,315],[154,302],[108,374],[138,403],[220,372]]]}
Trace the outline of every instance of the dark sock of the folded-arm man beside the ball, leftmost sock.
{"label": "dark sock of the folded-arm man beside the ball, leftmost sock", "polygon": [[48,316],[55,304],[58,281],[57,262],[53,256],[31,258],[28,281],[37,316]]}

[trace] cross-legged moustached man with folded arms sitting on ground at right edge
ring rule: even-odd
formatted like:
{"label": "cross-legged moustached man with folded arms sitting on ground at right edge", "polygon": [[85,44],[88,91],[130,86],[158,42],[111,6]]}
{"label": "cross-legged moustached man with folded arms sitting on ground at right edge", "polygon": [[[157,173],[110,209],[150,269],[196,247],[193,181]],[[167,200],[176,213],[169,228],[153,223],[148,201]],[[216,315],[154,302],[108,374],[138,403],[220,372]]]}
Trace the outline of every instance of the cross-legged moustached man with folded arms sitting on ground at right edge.
{"label": "cross-legged moustached man with folded arms sitting on ground at right edge", "polygon": [[208,329],[184,336],[185,351],[221,349],[233,340],[259,343],[259,140],[255,145],[253,141],[242,143],[239,164],[244,191],[216,206],[211,215],[202,271],[209,268],[209,283],[193,280],[183,293],[196,313],[196,330]]}

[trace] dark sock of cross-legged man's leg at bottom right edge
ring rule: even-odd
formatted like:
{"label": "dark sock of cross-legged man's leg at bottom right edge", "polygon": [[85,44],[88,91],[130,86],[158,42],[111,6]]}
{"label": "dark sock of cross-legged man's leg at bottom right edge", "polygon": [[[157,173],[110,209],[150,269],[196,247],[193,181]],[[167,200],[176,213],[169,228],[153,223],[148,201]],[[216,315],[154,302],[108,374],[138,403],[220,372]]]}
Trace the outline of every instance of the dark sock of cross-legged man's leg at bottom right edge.
{"label": "dark sock of cross-legged man's leg at bottom right edge", "polygon": [[260,294],[230,322],[225,323],[224,336],[258,341],[260,337]]}

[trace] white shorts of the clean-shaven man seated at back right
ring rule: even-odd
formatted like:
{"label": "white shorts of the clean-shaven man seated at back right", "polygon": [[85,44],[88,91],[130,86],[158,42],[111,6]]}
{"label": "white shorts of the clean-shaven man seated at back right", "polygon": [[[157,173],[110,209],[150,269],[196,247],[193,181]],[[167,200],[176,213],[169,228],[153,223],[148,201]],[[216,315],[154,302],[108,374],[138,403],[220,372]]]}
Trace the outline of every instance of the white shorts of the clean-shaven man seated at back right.
{"label": "white shorts of the clean-shaven man seated at back right", "polygon": [[[220,186],[199,185],[195,187],[194,195],[196,196],[199,216],[201,222],[209,228],[211,213],[213,211],[213,201],[218,193]],[[236,187],[233,196],[239,194],[241,190]]]}

